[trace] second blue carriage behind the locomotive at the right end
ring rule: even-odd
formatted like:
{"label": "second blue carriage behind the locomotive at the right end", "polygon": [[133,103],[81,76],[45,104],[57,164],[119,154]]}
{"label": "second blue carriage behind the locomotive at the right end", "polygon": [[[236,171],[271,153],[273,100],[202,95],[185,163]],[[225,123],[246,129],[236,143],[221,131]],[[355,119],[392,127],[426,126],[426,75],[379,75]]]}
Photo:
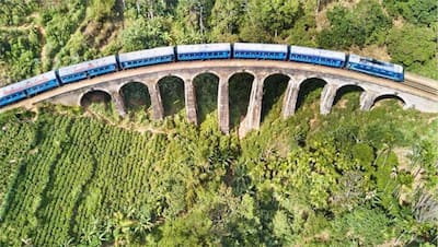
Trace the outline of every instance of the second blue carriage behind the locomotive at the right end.
{"label": "second blue carriage behind the locomotive at the right end", "polygon": [[286,60],[288,47],[277,44],[235,43],[233,50],[234,58]]}

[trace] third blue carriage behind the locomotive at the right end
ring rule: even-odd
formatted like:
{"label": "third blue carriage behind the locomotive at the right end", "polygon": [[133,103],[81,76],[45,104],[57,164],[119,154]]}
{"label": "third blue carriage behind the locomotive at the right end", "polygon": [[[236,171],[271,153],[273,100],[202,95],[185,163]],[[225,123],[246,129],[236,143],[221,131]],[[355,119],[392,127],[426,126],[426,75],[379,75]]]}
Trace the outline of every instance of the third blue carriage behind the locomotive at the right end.
{"label": "third blue carriage behind the locomotive at the right end", "polygon": [[227,59],[231,58],[231,44],[198,44],[176,46],[176,57],[180,61]]}

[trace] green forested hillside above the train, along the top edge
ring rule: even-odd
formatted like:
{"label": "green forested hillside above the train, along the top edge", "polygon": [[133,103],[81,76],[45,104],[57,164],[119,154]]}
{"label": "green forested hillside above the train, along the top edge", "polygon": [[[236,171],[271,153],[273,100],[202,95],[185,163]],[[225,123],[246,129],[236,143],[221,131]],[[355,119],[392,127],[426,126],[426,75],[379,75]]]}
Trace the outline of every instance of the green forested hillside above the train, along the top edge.
{"label": "green forested hillside above the train, along the top edge", "polygon": [[120,51],[214,42],[354,51],[438,79],[434,0],[2,0],[1,5],[1,84]]}

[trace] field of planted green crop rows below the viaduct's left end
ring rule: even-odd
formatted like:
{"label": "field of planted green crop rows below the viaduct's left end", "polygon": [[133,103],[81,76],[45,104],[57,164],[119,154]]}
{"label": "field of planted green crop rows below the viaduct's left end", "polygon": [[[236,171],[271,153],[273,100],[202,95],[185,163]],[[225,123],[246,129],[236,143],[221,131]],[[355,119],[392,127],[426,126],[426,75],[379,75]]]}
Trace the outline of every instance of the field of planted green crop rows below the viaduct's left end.
{"label": "field of planted green crop rows below the viaduct's left end", "polygon": [[[3,163],[23,155],[14,193],[3,202],[0,231],[7,233],[5,243],[21,245],[21,239],[31,238],[36,246],[58,246],[87,234],[94,219],[159,200],[160,191],[151,191],[158,180],[150,180],[166,150],[165,136],[139,136],[66,116],[34,128],[38,132],[33,145],[38,148],[33,152],[27,152],[32,127],[16,125],[2,133],[22,140],[0,143],[5,146],[0,154]],[[9,180],[14,177],[12,165],[18,164],[1,166],[1,175],[10,174]],[[157,174],[152,177],[159,179]],[[14,184],[9,180],[3,179],[1,192]]]}

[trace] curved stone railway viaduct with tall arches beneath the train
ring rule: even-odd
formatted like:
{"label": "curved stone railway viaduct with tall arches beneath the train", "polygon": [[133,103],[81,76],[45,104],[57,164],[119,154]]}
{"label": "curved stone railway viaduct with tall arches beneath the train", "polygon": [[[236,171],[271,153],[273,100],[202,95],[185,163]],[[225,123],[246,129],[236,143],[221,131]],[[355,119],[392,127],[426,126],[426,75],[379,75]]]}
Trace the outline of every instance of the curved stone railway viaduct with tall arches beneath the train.
{"label": "curved stone railway viaduct with tall arches beneath the train", "polygon": [[176,77],[184,81],[187,120],[197,125],[196,94],[193,82],[196,77],[210,73],[219,79],[219,128],[222,132],[229,133],[228,82],[233,74],[242,72],[254,77],[246,116],[240,126],[240,133],[243,136],[250,130],[260,128],[264,82],[274,74],[283,74],[289,78],[283,103],[284,118],[288,118],[295,114],[300,86],[307,79],[312,78],[325,82],[320,105],[320,113],[323,115],[331,111],[336,93],[342,87],[351,85],[362,90],[360,96],[360,109],[362,110],[369,110],[379,98],[392,96],[401,99],[404,103],[404,108],[438,113],[438,82],[429,79],[406,73],[405,82],[399,83],[344,69],[289,61],[237,59],[174,62],[118,71],[60,86],[5,107],[4,109],[23,106],[31,108],[38,102],[78,106],[81,104],[84,94],[93,91],[103,91],[111,95],[119,115],[124,116],[126,113],[120,90],[127,83],[139,82],[148,87],[154,118],[163,119],[164,110],[158,83],[163,78]]}

